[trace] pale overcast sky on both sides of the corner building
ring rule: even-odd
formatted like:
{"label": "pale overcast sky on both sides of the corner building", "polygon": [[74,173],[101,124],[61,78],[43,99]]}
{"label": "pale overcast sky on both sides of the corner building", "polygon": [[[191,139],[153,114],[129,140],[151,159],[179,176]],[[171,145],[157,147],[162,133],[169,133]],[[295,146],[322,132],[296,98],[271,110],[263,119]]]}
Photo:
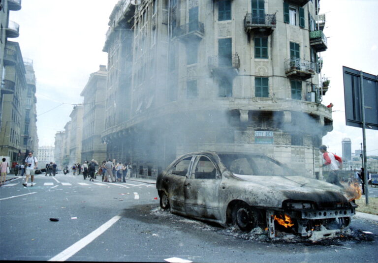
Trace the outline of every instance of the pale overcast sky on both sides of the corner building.
{"label": "pale overcast sky on both sides of the corner building", "polygon": [[[109,15],[118,0],[23,0],[10,19],[20,25],[24,58],[33,60],[37,78],[39,146],[54,146],[55,133],[70,120],[73,104],[83,101],[92,72],[107,64],[102,52]],[[342,67],[378,74],[378,0],[321,0],[326,14],[328,50],[322,75],[330,79],[323,104],[332,102],[333,131],[323,138],[329,151],[342,155],[341,142],[350,138],[352,151],[360,149],[362,129],[345,125]],[[367,153],[378,155],[378,131],[367,129]]]}

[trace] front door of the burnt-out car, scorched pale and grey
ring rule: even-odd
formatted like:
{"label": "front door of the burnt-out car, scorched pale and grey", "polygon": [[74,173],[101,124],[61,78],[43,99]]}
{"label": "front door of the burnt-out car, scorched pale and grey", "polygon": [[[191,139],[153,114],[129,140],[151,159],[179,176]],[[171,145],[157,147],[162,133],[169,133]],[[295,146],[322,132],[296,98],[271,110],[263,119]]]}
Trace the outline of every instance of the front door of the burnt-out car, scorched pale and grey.
{"label": "front door of the burnt-out car, scorched pale and grey", "polygon": [[185,180],[185,211],[199,218],[219,219],[221,173],[205,155],[195,158],[190,176]]}

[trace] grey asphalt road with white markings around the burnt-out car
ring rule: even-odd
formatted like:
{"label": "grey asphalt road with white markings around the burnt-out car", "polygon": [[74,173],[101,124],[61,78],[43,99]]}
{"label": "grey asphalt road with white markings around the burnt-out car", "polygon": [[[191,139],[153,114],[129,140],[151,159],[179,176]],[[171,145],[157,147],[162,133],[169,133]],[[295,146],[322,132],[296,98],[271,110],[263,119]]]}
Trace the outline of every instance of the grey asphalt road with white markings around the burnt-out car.
{"label": "grey asphalt road with white markings around the burnt-out car", "polygon": [[[311,242],[192,220],[159,209],[155,185],[38,175],[0,188],[0,260],[164,262],[376,262],[378,223],[354,218],[351,234]],[[58,218],[58,222],[50,221]],[[369,231],[373,234],[364,234]],[[286,240],[285,240],[286,239]]]}

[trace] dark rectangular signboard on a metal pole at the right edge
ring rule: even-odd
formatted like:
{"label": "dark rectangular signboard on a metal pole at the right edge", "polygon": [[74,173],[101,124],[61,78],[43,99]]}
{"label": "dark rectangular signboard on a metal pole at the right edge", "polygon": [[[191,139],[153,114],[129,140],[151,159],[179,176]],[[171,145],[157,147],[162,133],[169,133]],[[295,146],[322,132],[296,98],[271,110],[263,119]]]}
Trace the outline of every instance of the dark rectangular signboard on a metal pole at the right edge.
{"label": "dark rectangular signboard on a metal pole at the right edge", "polygon": [[[343,66],[345,117],[348,126],[362,128],[360,71]],[[363,72],[366,128],[378,130],[377,76]]]}

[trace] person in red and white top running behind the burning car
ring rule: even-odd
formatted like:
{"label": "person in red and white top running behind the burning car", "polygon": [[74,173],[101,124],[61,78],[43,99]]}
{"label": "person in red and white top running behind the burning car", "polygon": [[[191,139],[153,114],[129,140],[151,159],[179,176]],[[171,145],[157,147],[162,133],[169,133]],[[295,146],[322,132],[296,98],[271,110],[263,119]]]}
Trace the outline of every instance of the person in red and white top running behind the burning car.
{"label": "person in red and white top running behind the burning car", "polygon": [[327,167],[329,169],[329,174],[326,181],[343,187],[339,179],[339,169],[343,168],[343,160],[336,154],[328,152],[327,146],[325,145],[319,146],[319,150],[323,156],[323,164],[320,165],[320,167],[323,169],[324,167]]}

